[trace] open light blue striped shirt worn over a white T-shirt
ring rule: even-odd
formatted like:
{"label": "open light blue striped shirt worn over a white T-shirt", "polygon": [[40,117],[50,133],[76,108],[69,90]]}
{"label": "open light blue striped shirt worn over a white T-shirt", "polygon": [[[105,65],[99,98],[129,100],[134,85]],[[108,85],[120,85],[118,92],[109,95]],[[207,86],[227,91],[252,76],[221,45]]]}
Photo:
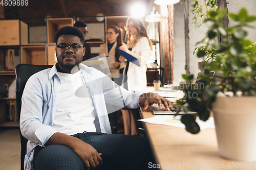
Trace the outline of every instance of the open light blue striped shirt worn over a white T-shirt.
{"label": "open light blue striped shirt worn over a white T-shirt", "polygon": [[[142,93],[132,93],[117,86],[99,70],[80,64],[84,81],[92,96],[95,106],[94,113],[98,117],[96,130],[111,134],[108,111],[105,104],[112,104],[119,108],[139,108],[139,96]],[[57,132],[52,128],[56,99],[61,85],[56,64],[49,69],[42,70],[31,76],[25,86],[22,96],[22,110],[20,112],[20,130],[29,139],[25,169],[33,168],[33,155],[36,145],[44,147],[47,140]],[[118,109],[117,109],[118,110]]]}

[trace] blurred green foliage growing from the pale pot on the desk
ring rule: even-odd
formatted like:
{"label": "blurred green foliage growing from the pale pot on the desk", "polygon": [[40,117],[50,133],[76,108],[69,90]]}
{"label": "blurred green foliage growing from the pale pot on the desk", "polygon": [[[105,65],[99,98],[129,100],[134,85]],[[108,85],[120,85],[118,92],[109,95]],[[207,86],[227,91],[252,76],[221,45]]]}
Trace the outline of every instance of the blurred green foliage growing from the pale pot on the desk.
{"label": "blurred green foliage growing from the pale pot on the desk", "polygon": [[[231,91],[234,96],[256,96],[256,45],[246,39],[245,27],[249,22],[256,20],[255,16],[249,16],[245,9],[238,14],[229,13],[229,18],[237,24],[230,28],[223,28],[221,21],[226,14],[226,9],[209,11],[209,18],[205,20],[209,28],[205,39],[205,47],[198,47],[198,57],[214,55],[215,61],[205,62],[205,75],[199,78],[199,84],[192,84],[194,75],[182,75],[188,84],[180,86],[185,92],[185,97],[177,101],[178,105],[187,105],[194,115],[183,115],[181,122],[190,133],[198,133],[200,127],[196,123],[196,117],[203,121],[209,118],[212,103],[217,93]],[[222,34],[228,44],[218,43],[218,35]],[[213,43],[210,43],[213,42]],[[210,71],[215,71],[213,79]],[[190,95],[189,95],[190,94]],[[178,113],[177,113],[178,114]]]}

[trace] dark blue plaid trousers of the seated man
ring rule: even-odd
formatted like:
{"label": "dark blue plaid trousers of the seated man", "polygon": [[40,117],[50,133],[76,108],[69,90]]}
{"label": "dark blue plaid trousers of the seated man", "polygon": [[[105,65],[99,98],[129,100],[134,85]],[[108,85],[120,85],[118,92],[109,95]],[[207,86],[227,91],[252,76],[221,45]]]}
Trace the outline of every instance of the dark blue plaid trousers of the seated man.
{"label": "dark blue plaid trousers of the seated man", "polygon": [[[148,167],[148,163],[154,163],[154,160],[145,137],[99,132],[78,133],[72,136],[91,144],[98,153],[102,153],[104,170],[152,169]],[[36,170],[86,169],[75,152],[59,144],[44,148],[37,146],[34,152],[34,167]]]}

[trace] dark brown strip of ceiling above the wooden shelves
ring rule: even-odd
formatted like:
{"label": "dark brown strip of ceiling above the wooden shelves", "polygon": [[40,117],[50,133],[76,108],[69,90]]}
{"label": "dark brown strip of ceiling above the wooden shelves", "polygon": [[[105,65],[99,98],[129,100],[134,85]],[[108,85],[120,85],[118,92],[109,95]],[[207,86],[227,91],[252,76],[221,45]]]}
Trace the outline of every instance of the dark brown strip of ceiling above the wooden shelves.
{"label": "dark brown strip of ceiling above the wooden shelves", "polygon": [[[5,19],[130,15],[133,3],[144,3],[148,8],[151,0],[28,0],[28,6],[5,6]],[[150,13],[150,12],[147,12]]]}

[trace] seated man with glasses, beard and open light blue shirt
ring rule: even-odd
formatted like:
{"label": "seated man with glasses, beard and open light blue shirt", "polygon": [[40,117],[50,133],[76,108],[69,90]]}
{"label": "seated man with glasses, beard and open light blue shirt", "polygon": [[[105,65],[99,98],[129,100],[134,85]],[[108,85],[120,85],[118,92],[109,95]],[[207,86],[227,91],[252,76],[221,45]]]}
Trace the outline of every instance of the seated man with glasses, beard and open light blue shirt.
{"label": "seated man with glasses, beard and open light blue shirt", "polygon": [[78,29],[61,28],[55,41],[58,62],[31,76],[22,96],[25,169],[147,169],[153,161],[147,139],[111,134],[105,103],[144,110],[153,103],[169,110],[172,103],[155,93],[126,91],[80,64],[85,48]]}

